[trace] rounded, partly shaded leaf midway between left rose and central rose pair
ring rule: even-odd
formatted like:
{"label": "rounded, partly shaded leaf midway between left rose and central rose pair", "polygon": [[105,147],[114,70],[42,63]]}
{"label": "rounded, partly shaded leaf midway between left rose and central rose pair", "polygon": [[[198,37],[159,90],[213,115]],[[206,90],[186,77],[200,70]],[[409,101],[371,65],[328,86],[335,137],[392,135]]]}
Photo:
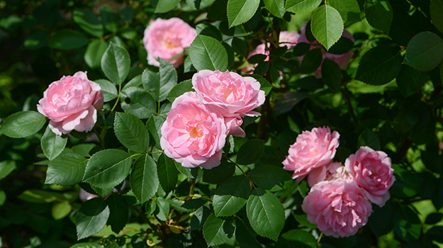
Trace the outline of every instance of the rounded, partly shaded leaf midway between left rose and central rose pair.
{"label": "rounded, partly shaded leaf midway between left rose and central rose pair", "polygon": [[157,103],[144,89],[129,87],[122,92],[130,98],[130,103],[121,103],[121,108],[126,113],[132,113],[138,118],[149,118],[152,114],[157,114]]}

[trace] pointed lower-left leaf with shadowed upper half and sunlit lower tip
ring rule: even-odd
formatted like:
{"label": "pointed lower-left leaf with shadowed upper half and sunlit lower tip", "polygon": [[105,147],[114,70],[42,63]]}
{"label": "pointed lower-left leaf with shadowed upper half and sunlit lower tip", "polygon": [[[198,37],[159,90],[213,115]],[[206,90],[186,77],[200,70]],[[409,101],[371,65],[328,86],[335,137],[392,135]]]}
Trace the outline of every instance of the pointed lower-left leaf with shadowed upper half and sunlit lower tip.
{"label": "pointed lower-left leaf with shadowed upper half and sunlit lower tip", "polygon": [[100,232],[106,225],[109,208],[103,198],[92,198],[83,203],[77,213],[77,239],[84,239]]}

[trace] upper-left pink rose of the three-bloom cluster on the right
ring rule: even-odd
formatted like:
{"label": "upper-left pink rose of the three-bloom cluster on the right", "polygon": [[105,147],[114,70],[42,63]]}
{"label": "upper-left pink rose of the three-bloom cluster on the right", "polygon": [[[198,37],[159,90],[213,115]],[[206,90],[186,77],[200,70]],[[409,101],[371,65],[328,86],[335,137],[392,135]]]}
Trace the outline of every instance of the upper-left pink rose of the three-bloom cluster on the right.
{"label": "upper-left pink rose of the three-bloom cluster on the right", "polygon": [[329,127],[303,131],[289,147],[283,169],[293,171],[292,178],[300,183],[305,176],[310,175],[310,171],[324,167],[332,161],[339,145],[339,137],[340,134],[337,131],[331,133]]}

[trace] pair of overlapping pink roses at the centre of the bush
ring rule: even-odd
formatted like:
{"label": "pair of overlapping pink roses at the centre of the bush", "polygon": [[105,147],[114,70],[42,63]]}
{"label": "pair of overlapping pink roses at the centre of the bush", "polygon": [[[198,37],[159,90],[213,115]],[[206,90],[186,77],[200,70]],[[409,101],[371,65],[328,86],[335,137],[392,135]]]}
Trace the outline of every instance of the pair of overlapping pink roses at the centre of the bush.
{"label": "pair of overlapping pink roses at the centre of the bush", "polygon": [[228,135],[245,137],[243,116],[264,103],[264,91],[252,77],[235,72],[201,70],[192,77],[195,92],[172,103],[162,125],[164,153],[183,167],[211,169],[220,164]]}

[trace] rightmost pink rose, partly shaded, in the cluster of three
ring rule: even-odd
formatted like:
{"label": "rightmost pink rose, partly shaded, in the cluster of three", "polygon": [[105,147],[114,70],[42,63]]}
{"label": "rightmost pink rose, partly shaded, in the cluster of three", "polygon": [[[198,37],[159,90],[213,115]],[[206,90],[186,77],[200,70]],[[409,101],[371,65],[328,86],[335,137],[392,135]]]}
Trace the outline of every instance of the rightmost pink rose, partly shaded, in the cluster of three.
{"label": "rightmost pink rose, partly shaded, in the cluster of three", "polygon": [[385,205],[390,198],[388,190],[396,181],[388,154],[369,147],[360,147],[346,159],[344,166],[354,176],[369,201],[381,207]]}

